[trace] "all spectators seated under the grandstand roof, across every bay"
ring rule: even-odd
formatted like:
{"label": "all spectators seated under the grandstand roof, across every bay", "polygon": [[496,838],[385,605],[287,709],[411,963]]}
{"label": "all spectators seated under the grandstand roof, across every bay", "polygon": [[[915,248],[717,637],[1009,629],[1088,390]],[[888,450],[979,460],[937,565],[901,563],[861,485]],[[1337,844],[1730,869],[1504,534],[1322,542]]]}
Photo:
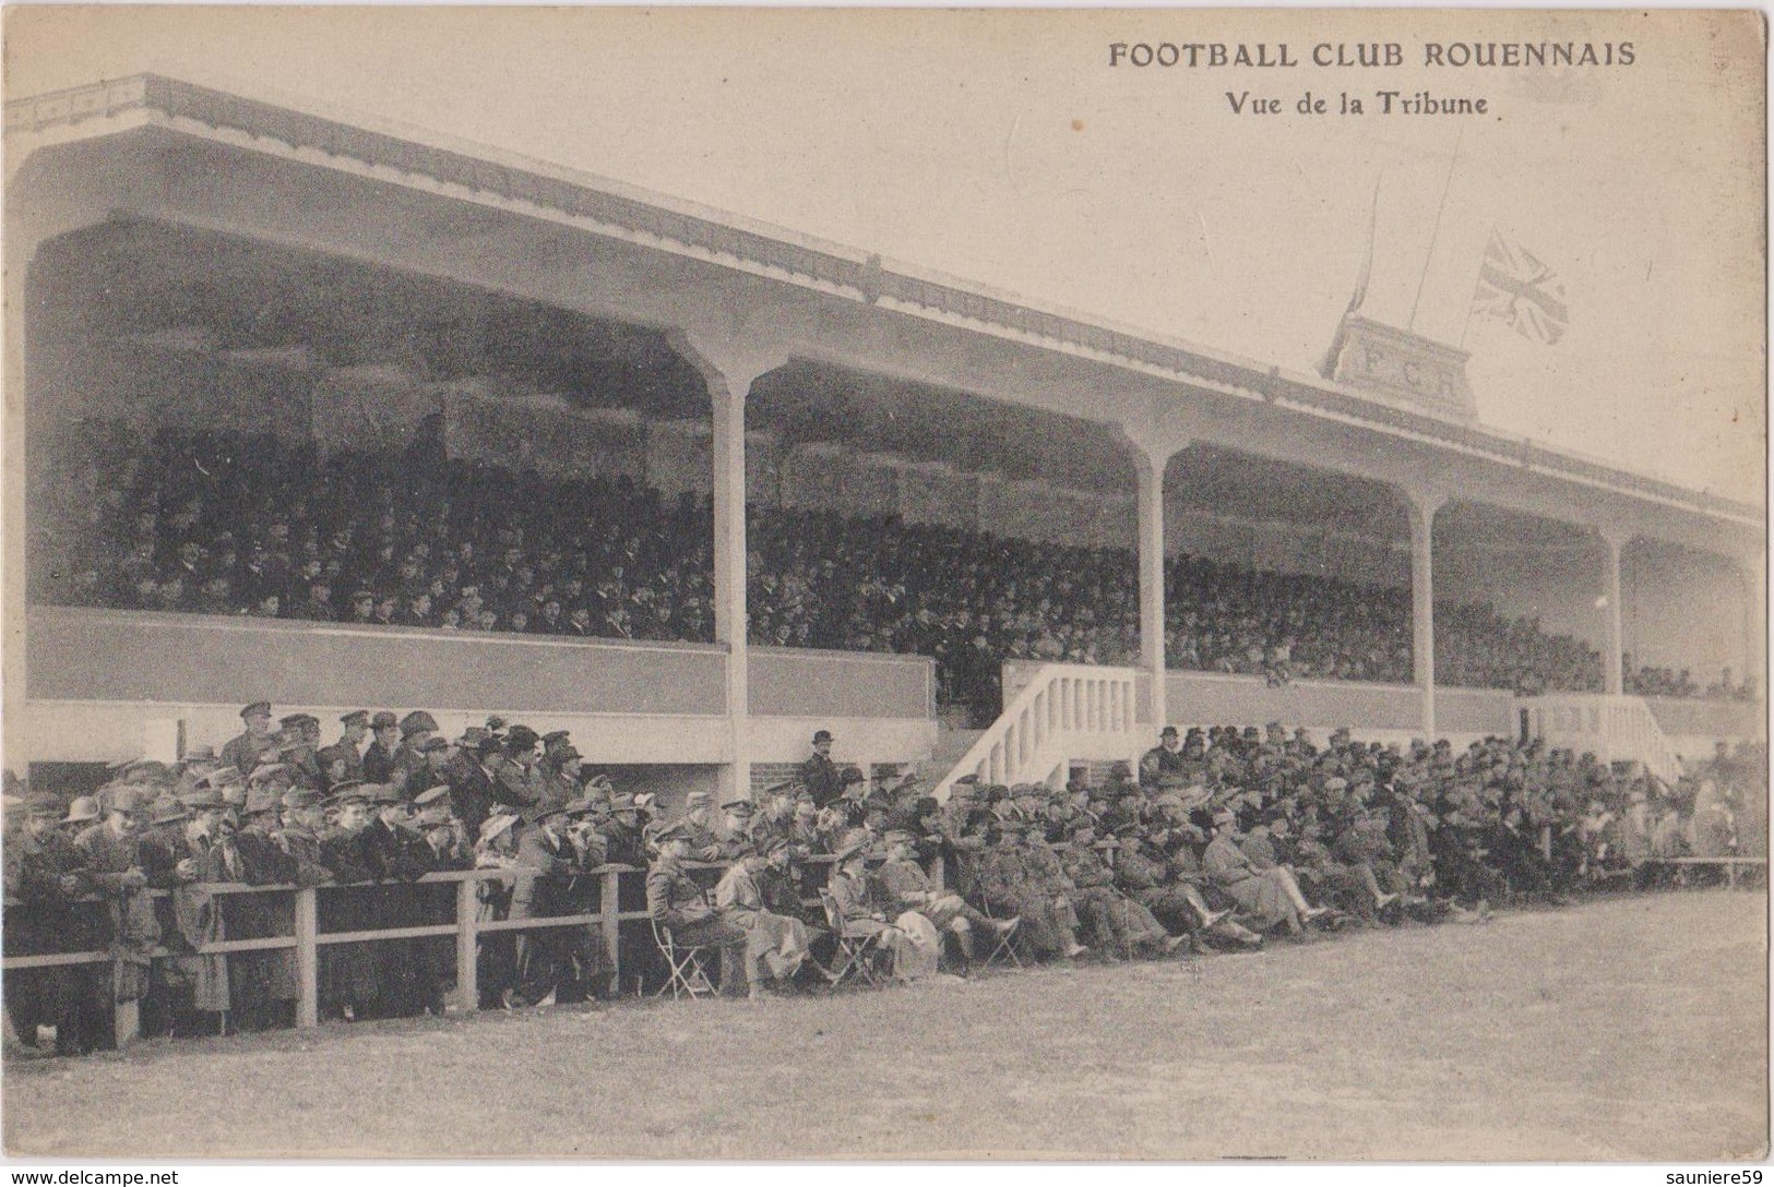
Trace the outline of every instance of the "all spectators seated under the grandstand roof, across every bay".
{"label": "all spectators seated under the grandstand roof, across every bay", "polygon": [[[711,507],[617,478],[545,478],[404,454],[318,455],[270,434],[163,431],[131,448],[89,429],[35,487],[34,601],[158,611],[520,631],[713,638]],[[983,531],[749,508],[754,643],[931,656],[944,703],[985,725],[1009,659],[1128,663],[1135,562]],[[1173,668],[1409,682],[1407,590],[1176,556]],[[1600,656],[1490,606],[1437,606],[1437,679],[1600,691]],[[1636,671],[1655,694],[1701,689]],[[1708,694],[1753,696],[1730,677]]]}

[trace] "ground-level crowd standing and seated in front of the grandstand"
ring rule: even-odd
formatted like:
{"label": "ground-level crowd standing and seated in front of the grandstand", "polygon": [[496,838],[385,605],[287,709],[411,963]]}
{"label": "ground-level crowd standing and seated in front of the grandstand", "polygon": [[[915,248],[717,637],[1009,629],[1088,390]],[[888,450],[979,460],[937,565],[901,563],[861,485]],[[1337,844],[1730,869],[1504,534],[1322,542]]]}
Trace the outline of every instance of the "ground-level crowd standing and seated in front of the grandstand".
{"label": "ground-level crowd standing and seated in front of the grandstand", "polygon": [[[756,997],[828,992],[850,973],[915,983],[992,958],[1483,923],[1495,907],[1648,888],[1664,857],[1765,854],[1767,834],[1765,753],[1723,744],[1666,787],[1495,737],[1455,751],[1339,730],[1320,748],[1279,725],[1166,728],[1102,781],[962,781],[938,803],[912,778],[832,764],[821,732],[802,778],[718,806],[692,790],[663,813],[589,771],[566,733],[493,718],[444,739],[422,710],[364,710],[319,748],[314,718],[270,730],[270,714],[248,705],[222,753],[124,764],[71,803],[12,787],[5,955],[110,957],[9,969],[14,1051],[110,1045],[119,1003],[147,1036],[291,1026],[293,950],[204,948],[293,935],[296,896],[218,884],[323,888],[325,937],[449,925],[456,882],[420,879],[491,872],[477,919],[538,927],[479,935],[477,999],[522,1010],[671,985],[685,948],[704,950],[722,994]],[[617,904],[603,902],[612,870],[635,872]],[[612,909],[630,921],[545,927]],[[321,1017],[442,1013],[456,997],[454,935],[318,951]]]}

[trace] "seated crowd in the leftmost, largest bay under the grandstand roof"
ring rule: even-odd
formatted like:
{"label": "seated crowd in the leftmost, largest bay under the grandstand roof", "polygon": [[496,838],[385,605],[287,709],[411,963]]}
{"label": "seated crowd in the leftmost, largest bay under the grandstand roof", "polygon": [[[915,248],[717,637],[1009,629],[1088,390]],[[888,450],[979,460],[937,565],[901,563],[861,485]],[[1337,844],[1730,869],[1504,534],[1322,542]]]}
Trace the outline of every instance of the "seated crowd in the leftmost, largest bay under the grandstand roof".
{"label": "seated crowd in the leftmost, largest bay under the grandstand roof", "polygon": [[[59,466],[59,471],[67,471]],[[713,636],[706,505],[420,448],[172,434],[34,565],[46,601],[532,634]]]}

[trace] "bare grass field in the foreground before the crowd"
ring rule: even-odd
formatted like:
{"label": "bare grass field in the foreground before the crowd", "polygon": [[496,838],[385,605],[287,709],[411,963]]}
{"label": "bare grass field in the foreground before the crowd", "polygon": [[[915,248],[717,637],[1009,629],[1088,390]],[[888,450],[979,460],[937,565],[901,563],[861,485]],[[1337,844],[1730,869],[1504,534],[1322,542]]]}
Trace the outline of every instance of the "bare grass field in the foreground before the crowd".
{"label": "bare grass field in the foreground before the crowd", "polygon": [[1763,895],[1696,891],[965,985],[144,1043],[9,1065],[5,1146],[1746,1157],[1767,1148],[1765,934]]}

